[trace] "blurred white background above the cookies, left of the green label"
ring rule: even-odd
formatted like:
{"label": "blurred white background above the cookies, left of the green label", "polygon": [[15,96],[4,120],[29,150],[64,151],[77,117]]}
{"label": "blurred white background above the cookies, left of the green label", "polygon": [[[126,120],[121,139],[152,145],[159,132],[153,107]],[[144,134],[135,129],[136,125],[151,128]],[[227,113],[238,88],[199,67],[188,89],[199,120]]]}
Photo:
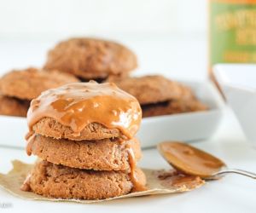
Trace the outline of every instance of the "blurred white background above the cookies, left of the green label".
{"label": "blurred white background above the cookies, left of the green label", "polygon": [[0,75],[42,66],[56,42],[81,35],[128,45],[136,75],[207,76],[207,0],[0,0]]}

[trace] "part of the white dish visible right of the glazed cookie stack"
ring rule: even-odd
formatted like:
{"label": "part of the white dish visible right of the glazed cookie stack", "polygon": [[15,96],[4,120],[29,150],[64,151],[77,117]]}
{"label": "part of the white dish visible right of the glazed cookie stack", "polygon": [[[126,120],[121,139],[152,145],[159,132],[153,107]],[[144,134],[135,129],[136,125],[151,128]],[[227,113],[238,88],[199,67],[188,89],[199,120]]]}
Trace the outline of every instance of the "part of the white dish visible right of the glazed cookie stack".
{"label": "part of the white dish visible right of the glazed cookie stack", "polygon": [[142,147],[152,147],[160,141],[199,141],[217,130],[222,118],[224,101],[211,82],[183,82],[209,107],[205,112],[186,112],[174,115],[143,118],[137,136]]}

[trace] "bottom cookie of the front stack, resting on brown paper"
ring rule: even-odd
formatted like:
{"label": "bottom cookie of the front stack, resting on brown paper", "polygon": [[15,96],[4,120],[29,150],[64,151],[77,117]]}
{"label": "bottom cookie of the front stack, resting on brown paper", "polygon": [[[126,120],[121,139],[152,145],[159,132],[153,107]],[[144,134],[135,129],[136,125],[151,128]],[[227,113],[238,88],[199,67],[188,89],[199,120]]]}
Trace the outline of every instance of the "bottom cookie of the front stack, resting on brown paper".
{"label": "bottom cookie of the front stack, resting on brown paper", "polygon": [[[142,170],[137,169],[137,179],[146,184]],[[108,199],[131,193],[132,187],[127,171],[79,170],[40,161],[21,189],[56,199]]]}

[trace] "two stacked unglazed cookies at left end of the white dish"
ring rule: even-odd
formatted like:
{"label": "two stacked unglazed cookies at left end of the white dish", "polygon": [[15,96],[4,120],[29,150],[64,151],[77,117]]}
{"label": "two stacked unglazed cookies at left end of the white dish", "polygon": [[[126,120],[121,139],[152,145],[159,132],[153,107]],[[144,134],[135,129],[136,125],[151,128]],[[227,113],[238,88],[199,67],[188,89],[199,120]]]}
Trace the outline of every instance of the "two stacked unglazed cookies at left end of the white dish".
{"label": "two stacked unglazed cookies at left end of the white dish", "polygon": [[78,81],[67,73],[36,68],[8,72],[0,78],[0,114],[26,117],[30,101],[41,92]]}

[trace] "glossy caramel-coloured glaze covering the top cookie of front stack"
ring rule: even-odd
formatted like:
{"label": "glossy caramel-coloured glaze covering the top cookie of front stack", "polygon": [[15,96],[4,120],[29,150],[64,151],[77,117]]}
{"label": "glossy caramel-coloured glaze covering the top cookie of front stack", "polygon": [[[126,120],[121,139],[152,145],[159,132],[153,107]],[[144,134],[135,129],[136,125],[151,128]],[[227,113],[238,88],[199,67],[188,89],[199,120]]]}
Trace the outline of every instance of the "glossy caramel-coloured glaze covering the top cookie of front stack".
{"label": "glossy caramel-coloured glaze covering the top cookie of front stack", "polygon": [[27,112],[29,130],[42,118],[54,118],[80,134],[87,124],[99,123],[118,129],[131,139],[142,119],[142,110],[135,97],[114,83],[69,83],[44,91],[32,100]]}

